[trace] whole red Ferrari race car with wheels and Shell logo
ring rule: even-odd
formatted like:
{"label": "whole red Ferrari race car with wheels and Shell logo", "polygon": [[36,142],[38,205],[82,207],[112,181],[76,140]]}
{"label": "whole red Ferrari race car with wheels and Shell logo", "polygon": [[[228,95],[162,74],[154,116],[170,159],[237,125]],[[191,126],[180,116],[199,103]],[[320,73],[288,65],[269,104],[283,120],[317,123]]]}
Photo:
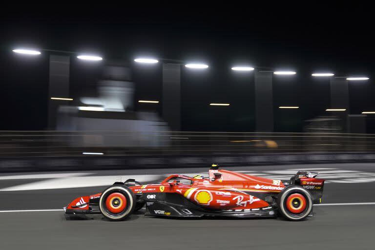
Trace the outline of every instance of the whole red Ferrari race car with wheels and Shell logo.
{"label": "whole red Ferrari race car with wheels and Shell logo", "polygon": [[134,179],[115,182],[102,193],[82,196],[64,208],[66,214],[102,213],[124,220],[146,205],[145,215],[170,217],[276,217],[299,221],[321,202],[324,180],[317,172],[298,171],[290,180],[272,180],[219,169],[208,177],[172,174],[160,184]]}

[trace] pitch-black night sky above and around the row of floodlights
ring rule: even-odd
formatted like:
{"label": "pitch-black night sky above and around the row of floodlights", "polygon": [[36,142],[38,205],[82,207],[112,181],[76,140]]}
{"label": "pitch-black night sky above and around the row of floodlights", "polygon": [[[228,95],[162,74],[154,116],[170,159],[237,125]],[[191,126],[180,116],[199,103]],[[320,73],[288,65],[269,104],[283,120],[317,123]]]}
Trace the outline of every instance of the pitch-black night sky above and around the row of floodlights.
{"label": "pitch-black night sky above and around the row of floodlights", "polygon": [[[339,6],[318,2],[314,6],[306,2],[290,6],[272,6],[271,2],[236,4],[231,8],[230,3],[212,3],[210,7],[193,2],[168,7],[145,3],[144,7],[97,9],[67,4],[64,9],[43,11],[32,5],[21,9],[7,6],[0,16],[0,129],[46,127],[48,58],[20,59],[11,52],[16,46],[93,52],[129,63],[141,54],[185,61],[201,59],[210,65],[206,76],[182,72],[186,130],[254,129],[253,112],[244,115],[254,108],[249,103],[254,98],[253,89],[228,70],[236,62],[296,70],[298,76],[286,85],[274,82],[275,105],[285,100],[301,105],[296,120],[319,115],[329,105],[329,85],[311,79],[312,71],[327,69],[336,75],[375,77],[374,13],[369,6],[359,2],[347,6],[343,2]],[[135,68],[134,77],[139,75]],[[139,87],[143,90],[138,94],[152,97],[152,92],[161,97],[160,74],[153,72],[149,79],[141,80],[144,83],[137,86],[146,85]],[[184,85],[184,81],[193,84]],[[373,81],[353,85],[350,91],[352,113],[375,109]],[[228,111],[212,115],[217,111],[201,108],[209,102],[208,96],[233,105]],[[276,124],[276,129],[278,126],[283,125]]]}

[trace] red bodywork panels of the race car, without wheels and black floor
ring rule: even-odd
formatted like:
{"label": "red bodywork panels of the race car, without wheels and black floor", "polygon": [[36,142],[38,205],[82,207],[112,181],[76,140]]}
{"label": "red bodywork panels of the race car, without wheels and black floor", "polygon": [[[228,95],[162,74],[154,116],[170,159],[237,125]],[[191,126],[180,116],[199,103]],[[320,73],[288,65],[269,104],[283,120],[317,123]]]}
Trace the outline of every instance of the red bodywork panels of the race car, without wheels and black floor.
{"label": "red bodywork panels of the race car, without wheels and black floor", "polygon": [[[174,179],[189,181],[180,183]],[[324,180],[302,177],[301,184],[311,189],[322,187]],[[254,210],[268,208],[271,204],[258,198],[256,193],[279,193],[285,186],[281,180],[272,180],[223,169],[210,169],[208,178],[196,179],[186,175],[173,174],[160,184],[129,187],[134,194],[140,193],[178,193],[202,208]],[[252,195],[248,194],[250,192]],[[255,193],[255,194],[254,194]],[[100,198],[101,193],[79,197],[67,209],[87,210],[92,199]],[[271,207],[270,207],[271,208]]]}

